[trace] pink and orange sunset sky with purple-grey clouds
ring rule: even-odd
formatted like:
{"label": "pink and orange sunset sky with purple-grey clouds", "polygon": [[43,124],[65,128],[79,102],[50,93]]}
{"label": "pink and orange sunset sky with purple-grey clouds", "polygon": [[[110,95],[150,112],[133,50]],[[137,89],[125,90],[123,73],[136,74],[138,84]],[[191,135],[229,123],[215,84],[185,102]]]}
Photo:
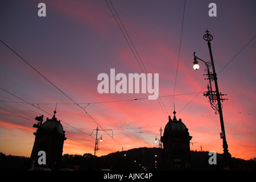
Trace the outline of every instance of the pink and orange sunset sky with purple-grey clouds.
{"label": "pink and orange sunset sky with purple-grey clouds", "polygon": [[[46,17],[38,16],[40,2]],[[51,118],[56,103],[67,137],[63,154],[93,154],[96,127],[108,130],[98,131],[103,139],[98,156],[158,147],[155,137],[160,139],[168,115],[174,117],[175,102],[177,119],[193,137],[191,150],[202,146],[222,154],[219,115],[199,93],[207,91],[205,67],[201,62],[193,70],[193,52],[210,60],[203,39],[208,28],[218,86],[229,99],[222,103],[229,152],[255,158],[256,2],[189,0],[185,9],[177,0],[111,2],[114,9],[109,0],[0,2],[0,40],[56,86],[0,42],[0,152],[30,156],[34,118]],[[217,16],[210,17],[212,2]],[[148,100],[148,93],[98,93],[100,73],[110,76],[115,69],[128,77],[144,68],[159,74],[158,100]]]}

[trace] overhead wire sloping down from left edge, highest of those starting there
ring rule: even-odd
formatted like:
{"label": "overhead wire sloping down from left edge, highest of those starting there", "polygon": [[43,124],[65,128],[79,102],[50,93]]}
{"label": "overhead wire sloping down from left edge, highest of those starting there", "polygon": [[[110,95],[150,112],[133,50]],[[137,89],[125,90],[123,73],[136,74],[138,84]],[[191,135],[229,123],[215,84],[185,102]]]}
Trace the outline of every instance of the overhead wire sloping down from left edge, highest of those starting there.
{"label": "overhead wire sloping down from left edge, highest of those starting there", "polygon": [[[83,108],[81,107],[79,104],[77,104],[74,100],[72,100],[72,98],[70,98],[67,94],[65,94],[62,90],[60,90],[56,85],[54,85],[51,81],[49,81],[45,76],[43,76],[39,71],[37,71],[34,67],[32,67],[31,64],[29,64],[26,60],[24,60],[18,53],[16,53],[12,48],[10,48],[6,43],[4,43],[2,40],[0,40],[0,42],[2,42],[7,48],[9,48],[11,51],[13,51],[15,53],[15,55],[17,55],[18,57],[20,57],[20,59],[22,59],[27,65],[29,65],[32,69],[34,69],[34,71],[36,71],[40,76],[42,76],[45,80],[47,80],[52,86],[54,86],[57,90],[59,90],[61,93],[64,94],[64,96],[66,96],[69,100],[71,100],[74,104],[76,104],[77,106],[80,107],[80,109],[82,109],[91,119],[93,122],[95,122],[102,130],[104,130],[100,124],[95,121],[95,119],[93,119],[93,117]],[[105,130],[104,130],[105,131]],[[108,134],[108,132],[105,131],[105,133]],[[109,135],[109,134],[108,134]],[[109,135],[110,138],[113,139],[113,137],[111,137]],[[117,140],[113,139],[115,142],[117,142]],[[122,144],[120,144],[119,142],[117,142],[119,145],[122,146]],[[122,146],[123,147],[123,146]]]}

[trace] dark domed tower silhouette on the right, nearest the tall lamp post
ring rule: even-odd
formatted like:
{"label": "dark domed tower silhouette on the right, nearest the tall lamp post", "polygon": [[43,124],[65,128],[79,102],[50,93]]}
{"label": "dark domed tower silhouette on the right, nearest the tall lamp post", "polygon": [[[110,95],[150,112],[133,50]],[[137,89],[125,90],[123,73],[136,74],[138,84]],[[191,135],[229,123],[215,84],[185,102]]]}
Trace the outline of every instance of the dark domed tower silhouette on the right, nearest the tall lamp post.
{"label": "dark domed tower silhouette on the right, nearest the tall lamp post", "polygon": [[163,163],[166,170],[183,170],[187,167],[190,168],[191,155],[190,155],[190,140],[188,129],[181,122],[176,119],[176,112],[174,111],[174,118],[169,121],[164,128],[163,137]]}

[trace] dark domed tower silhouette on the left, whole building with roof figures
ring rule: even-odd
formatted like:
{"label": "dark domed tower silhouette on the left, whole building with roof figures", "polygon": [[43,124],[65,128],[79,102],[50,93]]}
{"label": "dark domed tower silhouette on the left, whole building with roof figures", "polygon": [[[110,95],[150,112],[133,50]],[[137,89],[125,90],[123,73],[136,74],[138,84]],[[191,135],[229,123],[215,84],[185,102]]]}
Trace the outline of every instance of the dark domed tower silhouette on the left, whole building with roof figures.
{"label": "dark domed tower silhouette on the left, whole building with roof figures", "polygon": [[[60,167],[63,144],[65,138],[65,131],[63,131],[63,126],[60,121],[57,121],[55,117],[56,111],[52,119],[46,119],[43,122],[43,115],[36,117],[38,124],[34,124],[33,127],[38,128],[35,135],[35,142],[31,152],[31,167],[46,167],[52,170],[57,170]],[[44,151],[46,153],[46,164],[39,164],[38,155],[39,151]]]}

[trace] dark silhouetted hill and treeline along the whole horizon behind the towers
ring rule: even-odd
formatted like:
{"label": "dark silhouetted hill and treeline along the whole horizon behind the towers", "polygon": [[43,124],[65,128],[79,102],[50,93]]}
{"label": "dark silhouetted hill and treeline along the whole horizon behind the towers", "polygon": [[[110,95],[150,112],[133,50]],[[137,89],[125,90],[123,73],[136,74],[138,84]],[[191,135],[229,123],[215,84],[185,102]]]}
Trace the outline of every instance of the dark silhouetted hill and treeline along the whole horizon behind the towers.
{"label": "dark silhouetted hill and treeline along the whole horizon behind the towers", "polygon": [[[210,165],[208,160],[210,156],[208,151],[191,151],[191,169],[218,171],[222,170],[222,154],[217,154],[217,164]],[[61,160],[61,168],[71,168],[76,170],[93,170],[94,162],[92,154],[73,155],[64,154]],[[250,160],[243,160],[232,158],[231,162],[234,169],[240,171],[249,169],[256,170],[256,158]],[[0,152],[0,170],[14,171],[14,170],[28,170],[30,168],[30,158],[22,156],[5,155]],[[127,151],[118,151],[111,154],[97,157],[96,156],[96,170],[111,169],[119,170],[163,170],[163,161],[160,148],[133,148]]]}

